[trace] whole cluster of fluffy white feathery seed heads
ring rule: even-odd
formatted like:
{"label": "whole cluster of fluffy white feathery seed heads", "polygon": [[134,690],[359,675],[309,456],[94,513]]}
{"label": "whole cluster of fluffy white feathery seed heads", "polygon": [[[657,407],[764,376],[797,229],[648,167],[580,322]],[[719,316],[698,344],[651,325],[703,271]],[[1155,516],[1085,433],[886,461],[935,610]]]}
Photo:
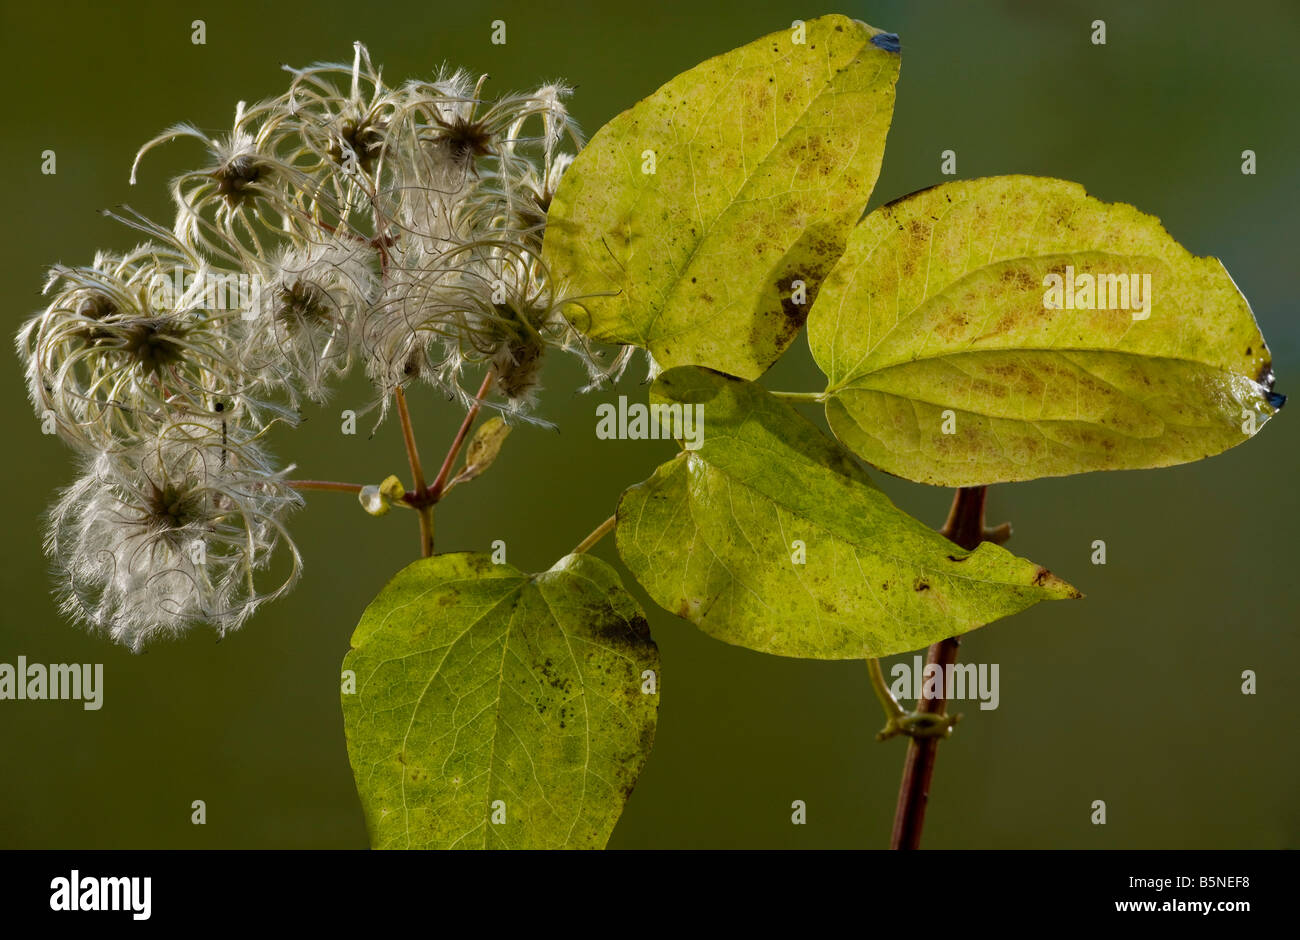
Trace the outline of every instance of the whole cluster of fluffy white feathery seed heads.
{"label": "whole cluster of fluffy white feathery seed heads", "polygon": [[170,183],[173,226],[109,212],[140,243],[55,265],[18,333],[36,415],[82,468],[46,538],[64,610],[131,649],[200,623],[224,634],[294,585],[300,498],[264,438],[354,365],[380,420],[412,384],[472,407],[472,373],[493,377],[485,404],[538,420],[549,348],[592,385],[627,359],[588,347],[569,326],[582,298],[541,261],[581,146],[569,88],[489,100],[462,70],[389,86],[360,43],[351,66],[287,72],[228,135],[177,125],[146,143],[133,183],[162,143],[207,152]]}

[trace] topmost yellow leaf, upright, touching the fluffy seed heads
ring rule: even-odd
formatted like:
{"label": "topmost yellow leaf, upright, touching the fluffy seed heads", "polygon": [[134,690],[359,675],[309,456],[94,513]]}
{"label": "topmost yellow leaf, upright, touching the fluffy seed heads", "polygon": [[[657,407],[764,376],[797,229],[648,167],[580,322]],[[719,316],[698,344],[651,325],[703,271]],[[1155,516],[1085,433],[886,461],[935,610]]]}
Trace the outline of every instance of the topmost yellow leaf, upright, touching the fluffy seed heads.
{"label": "topmost yellow leaf, upright, touching the fluffy seed heads", "polygon": [[569,309],[573,325],[664,367],[764,372],[871,196],[897,49],[855,20],[810,20],[697,65],[602,127],[547,215],[550,269],[599,295]]}

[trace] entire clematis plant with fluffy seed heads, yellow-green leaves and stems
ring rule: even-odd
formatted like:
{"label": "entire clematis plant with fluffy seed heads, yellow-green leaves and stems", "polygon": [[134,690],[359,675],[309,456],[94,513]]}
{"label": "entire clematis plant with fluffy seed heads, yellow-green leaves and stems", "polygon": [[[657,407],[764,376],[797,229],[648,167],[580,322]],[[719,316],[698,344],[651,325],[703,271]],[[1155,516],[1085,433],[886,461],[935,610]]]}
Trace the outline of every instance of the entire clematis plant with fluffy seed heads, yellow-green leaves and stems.
{"label": "entire clematis plant with fluffy seed heads, yellow-green leaves and stems", "polygon": [[[985,488],[1201,459],[1284,398],[1223,267],[1132,207],[996,177],[863,216],[900,53],[842,16],[796,21],[584,146],[564,86],[389,85],[358,44],[350,66],[290,69],[282,95],[240,103],[226,137],[178,125],[148,142],[133,182],[165,142],[207,152],[172,182],[172,228],[114,213],[144,241],[53,268],[18,335],[38,417],[83,468],[46,542],[64,612],[131,649],[226,633],[296,580],[286,520],[304,490],[413,510],[421,558],[343,660],[372,844],[603,846],[660,679],[645,611],[588,554],[615,532],[646,593],[711,636],[867,662],[881,737],[910,738],[893,844],[918,845],[956,716],[941,696],[904,709],[879,658],[928,646],[952,664],[962,633],[1080,597],[1001,547]],[[766,389],[805,325],[826,387]],[[681,452],[545,572],[437,554],[437,503],[511,428],[545,424],[550,350],[585,364],[584,390],[644,350],[638,415]],[[411,478],[294,478],[268,429],[355,367],[377,420],[396,413]],[[407,408],[426,389],[464,412],[432,478]],[[798,412],[810,403],[833,438]],[[480,423],[484,408],[498,413]],[[864,464],[957,488],[944,529]]]}

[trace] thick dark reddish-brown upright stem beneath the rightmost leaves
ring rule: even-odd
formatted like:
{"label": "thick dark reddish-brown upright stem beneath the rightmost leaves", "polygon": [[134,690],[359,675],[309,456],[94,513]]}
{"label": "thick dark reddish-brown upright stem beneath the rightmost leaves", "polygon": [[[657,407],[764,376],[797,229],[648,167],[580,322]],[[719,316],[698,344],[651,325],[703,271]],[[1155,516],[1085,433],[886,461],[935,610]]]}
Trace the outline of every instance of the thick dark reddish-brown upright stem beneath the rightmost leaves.
{"label": "thick dark reddish-brown upright stem beneath the rightmost leaves", "polygon": [[[941,532],[963,549],[975,550],[984,541],[984,497],[985,486],[970,486],[957,490],[948,521]],[[957,662],[962,638],[949,637],[930,647],[927,663],[937,666],[940,675],[948,672],[948,666]],[[940,683],[936,698],[922,696],[916,711],[942,714],[946,706],[944,685]],[[907,742],[907,758],[902,766],[902,783],[898,785],[898,807],[894,811],[890,849],[919,849],[920,832],[926,826],[926,806],[930,802],[930,781],[935,775],[935,758],[939,753],[939,737],[913,737]]]}

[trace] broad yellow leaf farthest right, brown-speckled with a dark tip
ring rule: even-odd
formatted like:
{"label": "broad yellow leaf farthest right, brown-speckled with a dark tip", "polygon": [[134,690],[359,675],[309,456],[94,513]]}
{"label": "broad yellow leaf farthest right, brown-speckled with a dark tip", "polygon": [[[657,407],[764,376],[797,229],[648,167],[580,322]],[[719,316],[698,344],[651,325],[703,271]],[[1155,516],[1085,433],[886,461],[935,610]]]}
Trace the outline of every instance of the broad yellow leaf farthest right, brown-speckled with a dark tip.
{"label": "broad yellow leaf farthest right, brown-speckled with a dark tip", "polygon": [[1197,460],[1284,400],[1218,260],[1060,179],[953,182],[876,209],[809,343],[835,434],[944,486]]}

